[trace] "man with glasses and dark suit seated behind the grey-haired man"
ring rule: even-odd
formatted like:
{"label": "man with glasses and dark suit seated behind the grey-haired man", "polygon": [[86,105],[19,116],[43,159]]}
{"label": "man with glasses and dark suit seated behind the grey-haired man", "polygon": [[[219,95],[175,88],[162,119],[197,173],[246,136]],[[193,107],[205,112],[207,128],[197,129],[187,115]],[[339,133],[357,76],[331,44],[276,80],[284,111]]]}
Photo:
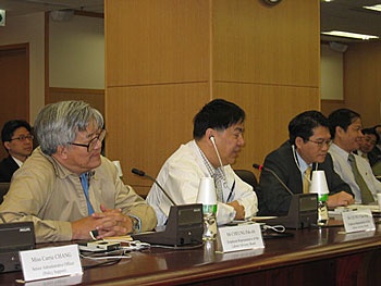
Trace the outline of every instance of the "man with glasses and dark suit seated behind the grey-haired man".
{"label": "man with glasses and dark suit seated behind the grey-haired man", "polygon": [[30,125],[23,120],[13,120],[4,124],[1,140],[9,157],[0,162],[0,183],[11,182],[13,173],[22,166],[33,151]]}

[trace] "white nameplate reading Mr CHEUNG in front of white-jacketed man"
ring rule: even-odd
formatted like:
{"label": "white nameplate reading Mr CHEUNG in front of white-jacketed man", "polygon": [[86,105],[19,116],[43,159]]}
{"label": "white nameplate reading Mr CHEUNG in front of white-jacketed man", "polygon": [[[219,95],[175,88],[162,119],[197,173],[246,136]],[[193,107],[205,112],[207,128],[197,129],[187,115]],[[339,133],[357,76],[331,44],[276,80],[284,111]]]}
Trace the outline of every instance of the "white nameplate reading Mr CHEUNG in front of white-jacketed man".
{"label": "white nameplate reading Mr CHEUNG in front of white-jacketed man", "polygon": [[262,232],[259,224],[244,224],[219,228],[222,252],[263,248]]}

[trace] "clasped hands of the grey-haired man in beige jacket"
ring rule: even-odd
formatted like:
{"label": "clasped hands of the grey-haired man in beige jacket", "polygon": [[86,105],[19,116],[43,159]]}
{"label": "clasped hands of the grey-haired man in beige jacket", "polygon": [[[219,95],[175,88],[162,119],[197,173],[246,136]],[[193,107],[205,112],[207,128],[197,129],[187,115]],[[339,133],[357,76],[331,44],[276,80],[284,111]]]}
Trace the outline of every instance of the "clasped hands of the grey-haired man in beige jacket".
{"label": "clasped hands of the grey-haired man in beige jacket", "polygon": [[125,235],[132,232],[132,219],[122,213],[120,209],[107,209],[100,206],[101,213],[93,213],[91,216],[85,217],[72,223],[72,239],[88,239],[89,232],[97,229],[97,239],[109,236]]}

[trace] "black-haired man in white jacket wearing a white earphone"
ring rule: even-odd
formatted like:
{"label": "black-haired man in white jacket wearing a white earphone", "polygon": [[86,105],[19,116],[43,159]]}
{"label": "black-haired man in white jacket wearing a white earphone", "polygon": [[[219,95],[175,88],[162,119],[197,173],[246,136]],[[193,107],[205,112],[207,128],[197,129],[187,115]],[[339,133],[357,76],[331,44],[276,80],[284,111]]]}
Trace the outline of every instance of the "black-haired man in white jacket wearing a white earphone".
{"label": "black-haired man in white jacket wearing a white earphone", "polygon": [[[164,163],[157,177],[159,184],[177,204],[195,203],[202,177],[214,178],[217,223],[249,217],[257,212],[253,187],[232,170],[244,146],[245,112],[236,104],[216,99],[206,104],[194,119],[194,140],[182,145]],[[158,226],[164,225],[171,201],[156,184],[147,202],[153,207]]]}

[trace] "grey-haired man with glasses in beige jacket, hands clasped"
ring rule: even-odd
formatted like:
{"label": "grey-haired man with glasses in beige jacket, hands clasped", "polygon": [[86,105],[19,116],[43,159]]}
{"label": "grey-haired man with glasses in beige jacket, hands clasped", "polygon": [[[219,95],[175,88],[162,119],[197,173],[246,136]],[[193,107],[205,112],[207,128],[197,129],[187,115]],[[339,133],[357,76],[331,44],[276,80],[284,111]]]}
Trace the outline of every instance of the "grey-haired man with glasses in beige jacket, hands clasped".
{"label": "grey-haired man with glasses in beige jacket, hands clasped", "polygon": [[5,222],[32,221],[37,243],[98,239],[152,229],[156,216],[100,156],[106,130],[83,101],[46,105],[35,130],[40,144],[13,176],[0,206]]}

